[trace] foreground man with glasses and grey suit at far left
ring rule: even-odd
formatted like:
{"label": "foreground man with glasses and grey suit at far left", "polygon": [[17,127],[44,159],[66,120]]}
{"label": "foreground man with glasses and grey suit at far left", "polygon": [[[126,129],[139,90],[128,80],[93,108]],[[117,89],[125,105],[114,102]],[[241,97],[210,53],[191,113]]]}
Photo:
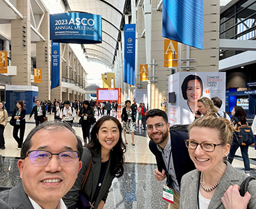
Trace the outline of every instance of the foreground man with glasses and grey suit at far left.
{"label": "foreground man with glasses and grey suit at far left", "polygon": [[66,209],[61,198],[74,185],[82,153],[81,139],[70,125],[45,122],[35,126],[18,161],[22,182],[0,192],[0,208]]}

